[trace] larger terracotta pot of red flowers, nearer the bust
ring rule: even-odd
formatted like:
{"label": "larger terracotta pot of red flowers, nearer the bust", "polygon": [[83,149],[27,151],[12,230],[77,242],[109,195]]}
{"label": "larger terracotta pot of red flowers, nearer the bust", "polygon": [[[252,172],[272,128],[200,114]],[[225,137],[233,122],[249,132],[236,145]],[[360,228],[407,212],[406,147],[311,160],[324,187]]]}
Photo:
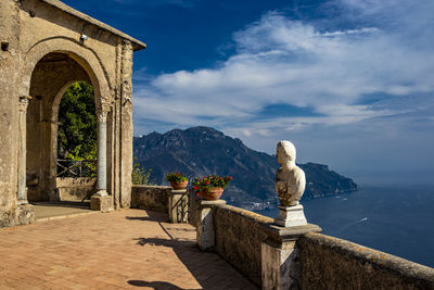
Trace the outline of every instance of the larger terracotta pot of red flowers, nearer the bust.
{"label": "larger terracotta pot of red flowers, nearer the bust", "polygon": [[218,176],[208,175],[202,178],[195,177],[192,182],[196,194],[201,196],[205,200],[218,200],[224,193],[225,188],[228,187],[232,177],[230,176]]}

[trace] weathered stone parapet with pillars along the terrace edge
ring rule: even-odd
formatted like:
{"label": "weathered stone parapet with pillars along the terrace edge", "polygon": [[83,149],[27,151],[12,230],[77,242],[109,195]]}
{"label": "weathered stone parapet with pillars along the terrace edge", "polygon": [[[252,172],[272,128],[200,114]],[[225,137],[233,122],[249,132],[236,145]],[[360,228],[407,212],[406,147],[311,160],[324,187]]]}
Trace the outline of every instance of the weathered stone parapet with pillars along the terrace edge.
{"label": "weathered stone parapet with pillars along the terrace edge", "polygon": [[[315,232],[315,225],[279,227],[271,217],[187,193],[197,247],[263,289],[434,289],[433,268]],[[169,213],[170,194],[170,187],[133,186],[131,206]]]}

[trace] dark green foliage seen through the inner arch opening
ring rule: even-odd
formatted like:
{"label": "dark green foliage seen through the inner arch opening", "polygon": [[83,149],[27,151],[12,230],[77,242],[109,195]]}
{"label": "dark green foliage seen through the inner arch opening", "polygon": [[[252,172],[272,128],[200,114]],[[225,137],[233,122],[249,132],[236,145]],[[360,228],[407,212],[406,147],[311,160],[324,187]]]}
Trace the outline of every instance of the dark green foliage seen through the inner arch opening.
{"label": "dark green foliage seen through the inner arch opening", "polygon": [[[58,159],[84,162],[85,175],[97,176],[97,115],[93,87],[74,83],[59,105]],[[69,164],[71,166],[71,164]]]}

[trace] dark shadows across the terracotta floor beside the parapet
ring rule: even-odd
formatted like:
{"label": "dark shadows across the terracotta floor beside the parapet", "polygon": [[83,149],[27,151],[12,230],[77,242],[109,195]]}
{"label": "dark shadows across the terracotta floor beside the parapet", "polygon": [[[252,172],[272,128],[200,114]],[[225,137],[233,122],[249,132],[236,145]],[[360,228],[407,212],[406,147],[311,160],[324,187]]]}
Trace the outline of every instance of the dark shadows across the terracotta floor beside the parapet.
{"label": "dark shadows across the terracotta floor beside the parapet", "polygon": [[[252,282],[248,281],[247,278],[243,278],[243,281],[234,281],[237,285],[231,285],[231,281],[221,280],[221,277],[225,277],[225,275],[227,275],[227,269],[232,268],[231,265],[221,260],[221,257],[218,256],[216,253],[202,252],[201,250],[199,250],[195,241],[176,239],[169,232],[169,230],[195,231],[195,229],[176,228],[175,226],[170,227],[167,225],[163,225],[162,223],[167,222],[167,214],[152,211],[146,211],[146,214],[148,217],[143,218],[135,218],[129,216],[126,218],[156,222],[158,223],[159,227],[166,232],[168,239],[140,237],[135,239],[137,241],[137,244],[161,245],[173,249],[179,261],[181,261],[186,265],[191,275],[201,285],[202,289],[218,289],[216,287],[220,286],[220,283],[222,287],[221,289],[226,289],[228,287],[233,287],[233,289],[257,289]],[[218,262],[218,267],[209,268],[209,265],[214,262]],[[220,279],[216,280],[215,278],[213,278],[214,276],[220,277]],[[225,285],[225,282],[228,283]],[[148,282],[142,280],[130,280],[128,281],[128,283],[137,287],[154,287],[155,289],[181,289],[177,286],[164,281]]]}

